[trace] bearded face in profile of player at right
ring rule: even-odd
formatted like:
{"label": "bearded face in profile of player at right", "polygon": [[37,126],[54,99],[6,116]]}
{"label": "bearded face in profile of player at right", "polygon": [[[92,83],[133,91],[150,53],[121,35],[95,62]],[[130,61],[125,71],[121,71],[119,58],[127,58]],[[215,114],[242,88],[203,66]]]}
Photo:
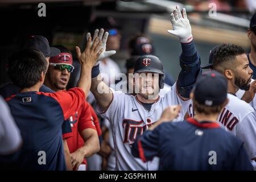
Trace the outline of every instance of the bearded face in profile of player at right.
{"label": "bearded face in profile of player at right", "polygon": [[234,84],[242,90],[249,90],[251,77],[253,76],[253,70],[249,66],[249,60],[246,54],[238,55],[236,58],[237,64],[234,68]]}

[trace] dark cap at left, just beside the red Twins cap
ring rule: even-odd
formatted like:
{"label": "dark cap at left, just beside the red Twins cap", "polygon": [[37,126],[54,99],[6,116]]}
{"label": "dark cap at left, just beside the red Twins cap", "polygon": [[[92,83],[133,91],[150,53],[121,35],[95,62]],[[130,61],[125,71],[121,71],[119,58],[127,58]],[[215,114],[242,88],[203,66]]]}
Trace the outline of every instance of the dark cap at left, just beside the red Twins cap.
{"label": "dark cap at left, just beside the red Twins cap", "polygon": [[44,57],[53,57],[57,56],[60,53],[60,50],[55,47],[49,47],[48,40],[42,35],[32,35],[26,40],[24,47],[34,47],[39,49],[44,55]]}

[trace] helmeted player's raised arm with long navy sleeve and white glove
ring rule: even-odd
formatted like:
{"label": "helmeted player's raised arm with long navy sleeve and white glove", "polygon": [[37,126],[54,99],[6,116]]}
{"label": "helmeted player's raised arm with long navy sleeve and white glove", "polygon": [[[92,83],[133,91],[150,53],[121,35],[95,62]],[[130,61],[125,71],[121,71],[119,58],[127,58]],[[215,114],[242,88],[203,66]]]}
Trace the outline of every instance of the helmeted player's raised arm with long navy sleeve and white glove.
{"label": "helmeted player's raised arm with long navy sleeve and white glove", "polygon": [[189,98],[197,76],[201,73],[200,56],[197,54],[193,42],[191,26],[185,9],[182,13],[179,6],[171,14],[171,23],[174,30],[168,30],[172,35],[180,39],[182,53],[180,55],[181,71],[177,79],[177,92],[183,98]]}

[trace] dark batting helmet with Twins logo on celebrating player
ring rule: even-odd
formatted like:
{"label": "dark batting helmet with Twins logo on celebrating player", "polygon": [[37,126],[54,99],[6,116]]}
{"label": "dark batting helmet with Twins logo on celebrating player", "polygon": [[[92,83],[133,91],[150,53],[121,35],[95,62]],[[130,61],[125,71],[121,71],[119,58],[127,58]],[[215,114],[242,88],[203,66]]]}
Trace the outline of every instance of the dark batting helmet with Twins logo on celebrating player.
{"label": "dark batting helmet with Twins logo on celebrating player", "polygon": [[156,56],[139,56],[134,65],[134,73],[141,72],[152,72],[164,75],[163,64]]}

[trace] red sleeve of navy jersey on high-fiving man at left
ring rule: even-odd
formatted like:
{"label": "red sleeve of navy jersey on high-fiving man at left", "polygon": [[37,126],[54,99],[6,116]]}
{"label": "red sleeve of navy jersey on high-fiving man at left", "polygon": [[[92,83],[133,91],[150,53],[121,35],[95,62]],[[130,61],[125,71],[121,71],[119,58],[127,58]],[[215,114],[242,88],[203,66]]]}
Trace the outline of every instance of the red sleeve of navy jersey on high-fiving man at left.
{"label": "red sleeve of navy jersey on high-fiving man at left", "polygon": [[53,93],[38,92],[38,94],[52,97],[59,102],[61,109],[63,110],[64,120],[67,120],[75,114],[85,102],[84,91],[80,88],[72,88],[67,91]]}

